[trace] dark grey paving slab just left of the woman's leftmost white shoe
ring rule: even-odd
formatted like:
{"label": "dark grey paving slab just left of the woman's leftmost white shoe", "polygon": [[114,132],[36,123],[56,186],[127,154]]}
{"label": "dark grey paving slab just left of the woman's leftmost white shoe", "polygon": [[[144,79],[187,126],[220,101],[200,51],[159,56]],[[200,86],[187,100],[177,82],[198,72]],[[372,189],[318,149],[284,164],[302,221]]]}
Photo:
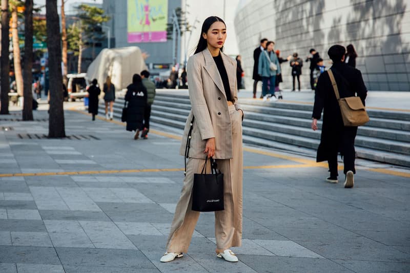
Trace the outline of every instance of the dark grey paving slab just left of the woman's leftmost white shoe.
{"label": "dark grey paving slab just left of the woman's leftmost white shoe", "polygon": [[139,250],[56,247],[63,266],[108,266],[156,269]]}

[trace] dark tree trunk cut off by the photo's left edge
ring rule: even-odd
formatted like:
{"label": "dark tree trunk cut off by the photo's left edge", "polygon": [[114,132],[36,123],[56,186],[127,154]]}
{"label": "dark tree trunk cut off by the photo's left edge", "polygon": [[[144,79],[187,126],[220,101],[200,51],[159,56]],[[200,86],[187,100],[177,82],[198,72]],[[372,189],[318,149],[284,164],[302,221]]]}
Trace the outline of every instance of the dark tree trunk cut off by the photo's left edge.
{"label": "dark tree trunk cut off by the photo's left edge", "polygon": [[9,62],[9,1],[2,0],[2,59],[1,59],[1,107],[0,114],[9,114],[9,89],[10,89],[10,62]]}

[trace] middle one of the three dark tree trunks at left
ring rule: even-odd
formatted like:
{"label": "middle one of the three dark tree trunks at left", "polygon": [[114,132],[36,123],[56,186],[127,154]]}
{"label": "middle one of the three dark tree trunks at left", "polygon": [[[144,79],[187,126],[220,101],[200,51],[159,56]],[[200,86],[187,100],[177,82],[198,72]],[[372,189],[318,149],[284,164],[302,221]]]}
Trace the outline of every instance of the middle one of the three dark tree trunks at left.
{"label": "middle one of the three dark tree trunks at left", "polygon": [[23,120],[33,120],[33,0],[26,0],[24,14],[24,106]]}

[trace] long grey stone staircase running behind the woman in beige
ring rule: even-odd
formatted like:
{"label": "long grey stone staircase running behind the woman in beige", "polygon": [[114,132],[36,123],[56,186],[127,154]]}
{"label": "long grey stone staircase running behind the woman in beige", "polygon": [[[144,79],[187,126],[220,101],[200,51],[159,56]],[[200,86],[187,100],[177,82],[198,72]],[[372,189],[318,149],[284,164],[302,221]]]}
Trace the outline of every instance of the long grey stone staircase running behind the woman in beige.
{"label": "long grey stone staircase running behind the woman in beige", "polygon": [[[314,155],[320,130],[312,131],[311,104],[263,102],[242,99],[245,112],[243,143]],[[114,103],[114,117],[121,117],[124,99]],[[182,134],[191,109],[188,95],[157,91],[151,121],[155,127]],[[104,106],[99,113],[104,115]],[[355,142],[357,157],[410,167],[410,113],[367,110],[370,121],[359,127]],[[319,128],[321,121],[318,121]]]}

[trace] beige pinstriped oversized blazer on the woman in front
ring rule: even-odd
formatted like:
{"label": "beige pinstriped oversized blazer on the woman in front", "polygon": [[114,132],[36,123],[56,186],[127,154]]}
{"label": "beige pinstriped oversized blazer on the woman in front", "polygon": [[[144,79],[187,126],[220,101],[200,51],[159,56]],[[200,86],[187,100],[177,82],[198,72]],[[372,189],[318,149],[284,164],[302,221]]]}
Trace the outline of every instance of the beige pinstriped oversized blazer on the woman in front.
{"label": "beige pinstriped oversized blazer on the woman in front", "polygon": [[[222,52],[221,55],[227,70],[233,103],[235,109],[239,110],[236,61]],[[195,116],[188,156],[197,159],[206,158],[203,153],[206,139],[214,137],[216,144],[214,158],[231,159],[232,125],[227,96],[218,68],[208,48],[188,59],[187,75],[192,109],[185,124],[180,154],[185,155],[190,123]]]}

